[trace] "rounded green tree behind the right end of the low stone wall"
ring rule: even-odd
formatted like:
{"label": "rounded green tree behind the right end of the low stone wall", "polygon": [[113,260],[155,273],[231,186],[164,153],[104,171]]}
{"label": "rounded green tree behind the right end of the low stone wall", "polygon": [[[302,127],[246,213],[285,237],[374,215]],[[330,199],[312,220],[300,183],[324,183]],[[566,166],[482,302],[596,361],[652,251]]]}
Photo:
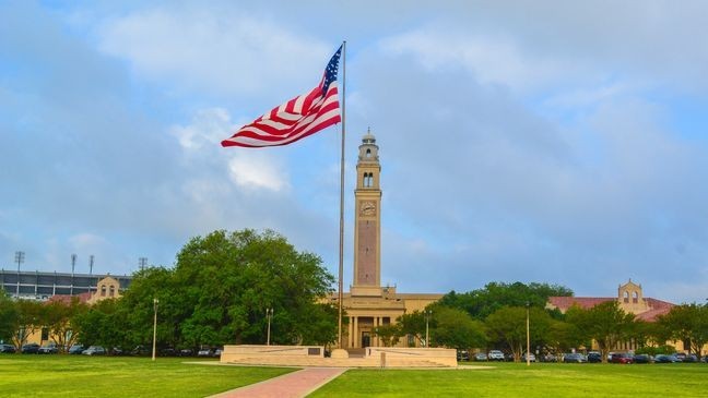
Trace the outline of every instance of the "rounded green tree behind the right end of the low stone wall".
{"label": "rounded green tree behind the right end of the low stone wall", "polygon": [[486,335],[482,322],[473,319],[467,312],[436,305],[435,345],[464,350],[486,346]]}

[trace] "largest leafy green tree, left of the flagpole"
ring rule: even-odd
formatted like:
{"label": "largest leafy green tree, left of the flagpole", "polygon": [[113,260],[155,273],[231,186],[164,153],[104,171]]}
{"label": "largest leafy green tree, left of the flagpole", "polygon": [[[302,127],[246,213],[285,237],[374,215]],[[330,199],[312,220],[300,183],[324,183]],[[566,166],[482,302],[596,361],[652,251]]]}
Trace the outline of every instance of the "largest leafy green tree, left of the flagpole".
{"label": "largest leafy green tree, left of the flagpole", "polygon": [[121,305],[137,345],[152,340],[154,298],[162,346],[263,343],[266,309],[273,309],[271,342],[328,343],[338,311],[323,299],[333,282],[317,255],[273,231],[214,231],[185,244],[174,268],[135,274]]}

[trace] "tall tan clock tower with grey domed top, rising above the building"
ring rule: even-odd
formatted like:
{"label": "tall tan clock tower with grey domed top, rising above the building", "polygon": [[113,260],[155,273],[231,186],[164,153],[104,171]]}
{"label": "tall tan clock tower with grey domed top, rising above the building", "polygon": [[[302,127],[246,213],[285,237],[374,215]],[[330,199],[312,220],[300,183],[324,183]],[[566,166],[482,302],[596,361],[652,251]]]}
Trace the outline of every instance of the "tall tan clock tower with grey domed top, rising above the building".
{"label": "tall tan clock tower with grey domed top, rising above the building", "polygon": [[353,296],[381,294],[381,165],[370,130],[362,138],[354,191]]}

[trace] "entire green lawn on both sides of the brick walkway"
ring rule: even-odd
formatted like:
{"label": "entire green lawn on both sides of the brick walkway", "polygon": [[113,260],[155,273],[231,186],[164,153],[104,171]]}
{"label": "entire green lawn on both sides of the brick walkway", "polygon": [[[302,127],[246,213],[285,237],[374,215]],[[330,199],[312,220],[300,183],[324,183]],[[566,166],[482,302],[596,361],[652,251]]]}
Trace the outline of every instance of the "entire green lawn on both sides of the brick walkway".
{"label": "entire green lawn on both sides of the brick walkway", "polygon": [[[203,397],[292,371],[185,360],[2,354],[0,397]],[[485,366],[350,370],[310,397],[708,397],[705,363]]]}

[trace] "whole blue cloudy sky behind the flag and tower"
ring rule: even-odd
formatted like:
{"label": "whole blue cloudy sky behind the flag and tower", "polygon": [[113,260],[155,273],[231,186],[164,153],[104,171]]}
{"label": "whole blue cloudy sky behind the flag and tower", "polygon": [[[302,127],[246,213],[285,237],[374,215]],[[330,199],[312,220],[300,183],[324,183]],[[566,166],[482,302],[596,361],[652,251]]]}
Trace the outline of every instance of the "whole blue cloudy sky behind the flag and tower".
{"label": "whole blue cloudy sky behind the flag and tower", "polygon": [[[216,229],[338,268],[330,128],[220,142],[346,53],[345,286],[356,146],[382,164],[382,281],[708,298],[703,1],[0,1],[0,266],[130,274]],[[355,4],[355,5],[354,5]]]}

